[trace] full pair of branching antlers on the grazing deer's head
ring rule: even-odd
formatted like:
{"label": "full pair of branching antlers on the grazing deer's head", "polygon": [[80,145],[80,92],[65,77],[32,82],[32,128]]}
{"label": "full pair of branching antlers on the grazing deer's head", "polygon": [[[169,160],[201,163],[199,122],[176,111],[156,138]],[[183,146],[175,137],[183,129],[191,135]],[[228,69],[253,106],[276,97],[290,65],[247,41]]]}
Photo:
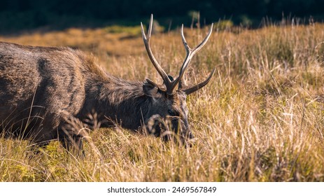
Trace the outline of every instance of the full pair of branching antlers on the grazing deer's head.
{"label": "full pair of branching antlers on the grazing deer's head", "polygon": [[[165,71],[162,69],[162,67],[160,66],[160,64],[157,62],[157,60],[155,59],[155,57],[153,56],[152,50],[150,49],[150,35],[152,33],[152,25],[153,25],[153,14],[150,15],[150,25],[148,27],[148,36],[146,37],[145,33],[144,33],[144,29],[143,29],[143,24],[141,22],[141,32],[142,32],[142,36],[143,36],[143,41],[144,41],[144,45],[146,48],[146,51],[148,52],[148,57],[150,57],[151,62],[153,63],[153,65],[155,66],[155,69],[157,69],[157,72],[160,73],[160,76],[162,77],[163,81],[164,81],[164,85],[167,87],[167,94],[174,94],[174,88],[176,87],[176,85],[178,85],[178,90],[181,90],[181,80],[183,78],[183,75],[185,73],[185,70],[188,68],[188,64],[190,63],[192,57],[200,50],[202,49],[202,47],[207,43],[207,41],[209,40],[209,37],[211,36],[211,31],[213,31],[213,24],[211,24],[211,28],[209,29],[209,33],[207,34],[207,36],[204,38],[204,40],[202,41],[202,43],[199,43],[199,45],[197,45],[195,48],[190,48],[188,46],[187,41],[185,41],[185,36],[183,35],[183,25],[181,27],[181,38],[183,41],[183,45],[185,45],[185,51],[187,52],[187,55],[185,57],[185,60],[181,66],[180,72],[178,77],[175,80],[170,80],[169,77],[167,76],[167,73],[165,73]],[[207,78],[204,82],[199,83],[198,85],[195,85],[194,87],[190,87],[187,90],[183,90],[184,92],[188,92],[188,94],[195,92],[196,90],[198,90],[201,87],[204,87],[204,85],[206,85],[207,83],[209,83],[209,80],[211,79],[211,76],[213,76],[215,69],[212,71],[211,75],[209,76],[209,78]]]}

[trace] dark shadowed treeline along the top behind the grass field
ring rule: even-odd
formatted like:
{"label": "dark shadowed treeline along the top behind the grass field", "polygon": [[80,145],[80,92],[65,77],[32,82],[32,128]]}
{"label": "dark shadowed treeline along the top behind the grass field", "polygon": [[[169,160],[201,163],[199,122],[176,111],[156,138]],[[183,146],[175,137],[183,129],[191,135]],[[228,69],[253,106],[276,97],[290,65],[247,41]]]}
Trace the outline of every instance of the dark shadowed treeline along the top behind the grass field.
{"label": "dark shadowed treeline along the top behind the grass field", "polygon": [[[190,22],[199,13],[202,22],[232,20],[235,25],[259,25],[262,18],[285,17],[324,19],[324,0],[2,0],[0,31],[10,32],[38,27],[95,27],[148,18]],[[167,22],[165,22],[167,23]],[[163,24],[162,24],[163,25]]]}

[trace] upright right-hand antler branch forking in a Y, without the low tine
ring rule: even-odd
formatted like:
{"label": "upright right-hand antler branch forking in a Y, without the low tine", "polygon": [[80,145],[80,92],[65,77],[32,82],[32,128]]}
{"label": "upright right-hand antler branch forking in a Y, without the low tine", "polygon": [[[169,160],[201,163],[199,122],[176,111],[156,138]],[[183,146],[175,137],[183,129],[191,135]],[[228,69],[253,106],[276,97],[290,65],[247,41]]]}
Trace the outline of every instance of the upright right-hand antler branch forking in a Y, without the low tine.
{"label": "upright right-hand antler branch forking in a Y, without the low tine", "polygon": [[195,48],[190,48],[187,41],[185,41],[185,36],[183,34],[183,25],[181,27],[181,38],[183,41],[183,45],[185,46],[185,51],[187,52],[187,55],[185,57],[185,61],[183,62],[183,65],[181,66],[179,76],[172,82],[172,90],[176,87],[176,85],[182,80],[183,74],[185,73],[185,70],[188,68],[188,65],[192,59],[192,57],[200,50],[202,47],[207,43],[209,40],[209,37],[211,36],[211,32],[213,31],[213,23],[211,24],[211,28],[209,29],[209,33],[206,35],[202,43],[199,43]]}

